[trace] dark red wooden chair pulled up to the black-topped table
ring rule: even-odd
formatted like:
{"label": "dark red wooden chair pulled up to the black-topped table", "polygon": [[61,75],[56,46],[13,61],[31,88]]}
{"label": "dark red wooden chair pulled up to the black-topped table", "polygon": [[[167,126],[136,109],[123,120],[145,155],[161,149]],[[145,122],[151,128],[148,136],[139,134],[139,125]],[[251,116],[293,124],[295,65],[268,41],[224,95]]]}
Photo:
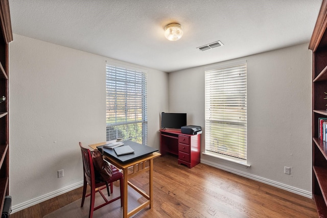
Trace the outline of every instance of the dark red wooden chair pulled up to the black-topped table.
{"label": "dark red wooden chair pulled up to the black-topped table", "polygon": [[[90,197],[91,198],[90,199],[90,211],[89,211],[89,216],[88,216],[89,218],[92,218],[93,212],[95,210],[97,210],[107,204],[110,204],[111,202],[116,201],[118,199],[121,199],[121,207],[122,207],[124,205],[124,203],[123,203],[123,196],[124,196],[124,194],[123,194],[123,192],[124,192],[123,174],[116,167],[111,165],[112,176],[111,176],[110,180],[96,181],[91,152],[89,149],[83,148],[81,142],[79,142],[79,144],[81,147],[82,159],[83,159],[83,169],[84,169],[84,186],[83,186],[83,197],[82,197],[81,207],[83,207],[84,200],[88,196],[91,196]],[[116,198],[108,201],[101,190],[107,187],[108,196],[109,196],[108,184],[110,185],[110,192],[112,193],[112,182],[117,181],[117,180],[120,181],[121,195],[119,197],[116,197]],[[91,192],[86,195],[87,183],[91,187]],[[102,198],[104,199],[105,203],[103,203],[97,207],[94,207],[96,192],[98,192],[98,191],[99,191],[100,195],[102,196]]]}

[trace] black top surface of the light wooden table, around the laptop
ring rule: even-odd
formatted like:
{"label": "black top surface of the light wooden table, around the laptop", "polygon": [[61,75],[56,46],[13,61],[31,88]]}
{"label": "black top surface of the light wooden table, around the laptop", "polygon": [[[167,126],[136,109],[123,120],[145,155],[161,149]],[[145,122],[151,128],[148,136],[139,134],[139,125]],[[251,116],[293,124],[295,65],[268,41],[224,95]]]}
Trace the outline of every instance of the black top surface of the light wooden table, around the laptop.
{"label": "black top surface of the light wooden table, around the laptop", "polygon": [[[144,146],[143,144],[136,143],[134,141],[124,141],[124,146],[129,146],[134,150],[134,153],[131,154],[124,154],[124,155],[117,155],[116,152],[113,149],[106,149],[103,148],[103,146],[97,146],[98,150],[105,153],[106,155],[113,157],[116,160],[119,160],[121,162],[127,162],[132,161],[136,158],[143,157],[149,154],[152,154],[153,152],[159,151],[158,149]],[[121,147],[124,147],[121,146]],[[120,148],[120,147],[118,147]]]}

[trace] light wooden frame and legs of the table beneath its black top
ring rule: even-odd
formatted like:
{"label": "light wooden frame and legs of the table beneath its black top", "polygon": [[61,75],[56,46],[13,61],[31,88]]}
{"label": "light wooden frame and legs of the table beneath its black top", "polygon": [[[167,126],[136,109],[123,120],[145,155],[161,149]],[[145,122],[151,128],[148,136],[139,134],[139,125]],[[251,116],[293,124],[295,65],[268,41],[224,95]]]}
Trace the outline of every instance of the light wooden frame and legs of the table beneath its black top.
{"label": "light wooden frame and legs of the table beneath its black top", "polygon": [[[97,144],[91,144],[89,147],[91,147],[92,149],[96,149],[97,146],[103,146],[104,144],[106,144],[106,142],[101,142],[101,143],[97,143]],[[123,217],[127,218],[130,217],[131,215],[137,213],[138,211],[142,210],[143,208],[145,208],[146,206],[152,206],[152,202],[153,202],[153,159],[156,157],[159,157],[161,154],[154,152],[150,155],[144,156],[144,157],[140,157],[137,158],[135,160],[129,161],[129,162],[121,162],[118,161],[106,154],[104,154],[104,156],[109,160],[110,163],[112,163],[113,165],[115,165],[116,167],[120,168],[123,170],[123,175],[124,175],[124,208],[123,208]],[[146,166],[146,161],[149,161],[149,166]],[[131,174],[128,175],[128,168],[133,166],[133,172]],[[144,192],[143,190],[139,189],[138,187],[136,187],[135,185],[133,185],[131,182],[128,181],[128,178],[132,178],[134,176],[136,176],[139,173],[142,172],[147,172],[149,171],[149,195]],[[139,205],[138,207],[132,209],[130,212],[128,212],[128,207],[127,207],[127,188],[128,185],[131,186],[134,190],[136,190],[138,193],[140,193],[144,198],[147,199],[147,201],[145,203],[143,203],[142,205]]]}

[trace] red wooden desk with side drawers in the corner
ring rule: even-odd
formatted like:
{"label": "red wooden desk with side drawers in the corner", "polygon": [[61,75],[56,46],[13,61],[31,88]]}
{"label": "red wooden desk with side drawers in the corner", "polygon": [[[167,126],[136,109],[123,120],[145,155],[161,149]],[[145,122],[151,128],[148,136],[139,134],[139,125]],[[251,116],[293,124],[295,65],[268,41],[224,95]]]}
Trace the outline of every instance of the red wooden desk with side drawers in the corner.
{"label": "red wooden desk with side drawers in the corner", "polygon": [[181,133],[180,129],[160,130],[160,153],[178,155],[178,164],[192,168],[200,163],[201,137]]}

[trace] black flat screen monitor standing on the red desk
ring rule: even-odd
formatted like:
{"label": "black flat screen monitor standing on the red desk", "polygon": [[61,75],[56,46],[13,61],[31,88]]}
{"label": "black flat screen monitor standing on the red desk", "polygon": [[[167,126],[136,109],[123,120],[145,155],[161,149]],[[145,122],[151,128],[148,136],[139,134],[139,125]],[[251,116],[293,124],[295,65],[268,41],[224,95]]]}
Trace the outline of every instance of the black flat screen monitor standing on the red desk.
{"label": "black flat screen monitor standing on the red desk", "polygon": [[161,128],[180,129],[186,126],[186,113],[161,113]]}

